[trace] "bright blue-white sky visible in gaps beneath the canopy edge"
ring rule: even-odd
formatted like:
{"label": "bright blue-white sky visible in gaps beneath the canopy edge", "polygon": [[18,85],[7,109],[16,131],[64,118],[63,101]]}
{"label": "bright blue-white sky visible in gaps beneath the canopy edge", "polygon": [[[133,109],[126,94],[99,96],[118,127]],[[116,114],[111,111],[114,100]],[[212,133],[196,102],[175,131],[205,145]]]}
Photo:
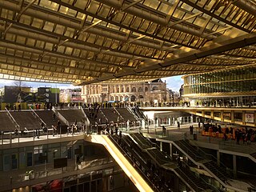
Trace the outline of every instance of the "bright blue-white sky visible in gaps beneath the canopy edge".
{"label": "bright blue-white sky visible in gaps beneath the canopy edge", "polygon": [[[166,81],[167,88],[178,91],[181,85],[183,84],[182,76],[174,76],[170,78],[162,78],[162,81]],[[0,79],[0,88],[3,86],[14,86],[13,80]],[[47,83],[47,82],[22,82],[22,86],[31,86],[31,87],[58,87],[60,89],[72,89],[76,86],[72,84],[60,84],[60,83]]]}

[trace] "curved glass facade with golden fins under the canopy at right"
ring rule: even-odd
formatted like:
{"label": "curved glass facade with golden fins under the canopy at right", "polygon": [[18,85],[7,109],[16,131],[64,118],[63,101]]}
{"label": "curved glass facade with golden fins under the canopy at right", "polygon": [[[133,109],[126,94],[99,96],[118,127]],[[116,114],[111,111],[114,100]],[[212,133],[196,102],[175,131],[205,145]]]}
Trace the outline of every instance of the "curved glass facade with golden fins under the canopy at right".
{"label": "curved glass facade with golden fins under the canopy at right", "polygon": [[244,93],[256,90],[256,67],[222,70],[184,76],[183,95]]}

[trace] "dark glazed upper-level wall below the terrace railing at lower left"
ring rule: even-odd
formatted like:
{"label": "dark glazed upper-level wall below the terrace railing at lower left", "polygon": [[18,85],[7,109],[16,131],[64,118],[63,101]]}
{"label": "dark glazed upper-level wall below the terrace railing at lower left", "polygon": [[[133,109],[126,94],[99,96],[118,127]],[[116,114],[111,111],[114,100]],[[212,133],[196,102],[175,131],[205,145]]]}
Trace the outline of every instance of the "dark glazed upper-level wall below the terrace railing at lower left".
{"label": "dark glazed upper-level wall below the terrace railing at lower left", "polygon": [[[87,158],[104,157],[104,147],[99,147],[78,140],[72,142],[56,142],[38,146],[26,146],[0,150],[0,171],[26,169],[32,166],[53,163],[56,158],[75,158],[75,150],[81,150],[83,160]],[[102,155],[104,154],[104,155]],[[42,157],[46,156],[45,160]],[[107,155],[106,155],[107,157]],[[46,161],[46,162],[45,162]]]}

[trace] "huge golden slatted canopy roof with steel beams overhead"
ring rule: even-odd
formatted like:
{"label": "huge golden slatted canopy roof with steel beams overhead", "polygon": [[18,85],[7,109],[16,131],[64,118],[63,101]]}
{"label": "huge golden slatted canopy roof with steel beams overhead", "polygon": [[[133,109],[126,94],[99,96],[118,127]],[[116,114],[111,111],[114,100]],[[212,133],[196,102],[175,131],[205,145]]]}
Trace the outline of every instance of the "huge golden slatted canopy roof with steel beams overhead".
{"label": "huge golden slatted canopy roof with steel beams overhead", "polygon": [[0,1],[0,78],[145,82],[256,65],[254,0]]}

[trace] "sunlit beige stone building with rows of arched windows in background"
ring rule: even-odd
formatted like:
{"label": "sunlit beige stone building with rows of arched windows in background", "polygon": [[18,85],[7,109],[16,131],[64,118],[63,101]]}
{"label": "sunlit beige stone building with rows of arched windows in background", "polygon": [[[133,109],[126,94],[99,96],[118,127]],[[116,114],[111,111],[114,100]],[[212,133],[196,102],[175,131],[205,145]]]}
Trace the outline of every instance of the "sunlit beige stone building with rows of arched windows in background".
{"label": "sunlit beige stone building with rows of arched windows in background", "polygon": [[170,102],[166,82],[161,79],[152,82],[130,84],[92,84],[82,86],[82,98],[86,103],[94,102]]}

